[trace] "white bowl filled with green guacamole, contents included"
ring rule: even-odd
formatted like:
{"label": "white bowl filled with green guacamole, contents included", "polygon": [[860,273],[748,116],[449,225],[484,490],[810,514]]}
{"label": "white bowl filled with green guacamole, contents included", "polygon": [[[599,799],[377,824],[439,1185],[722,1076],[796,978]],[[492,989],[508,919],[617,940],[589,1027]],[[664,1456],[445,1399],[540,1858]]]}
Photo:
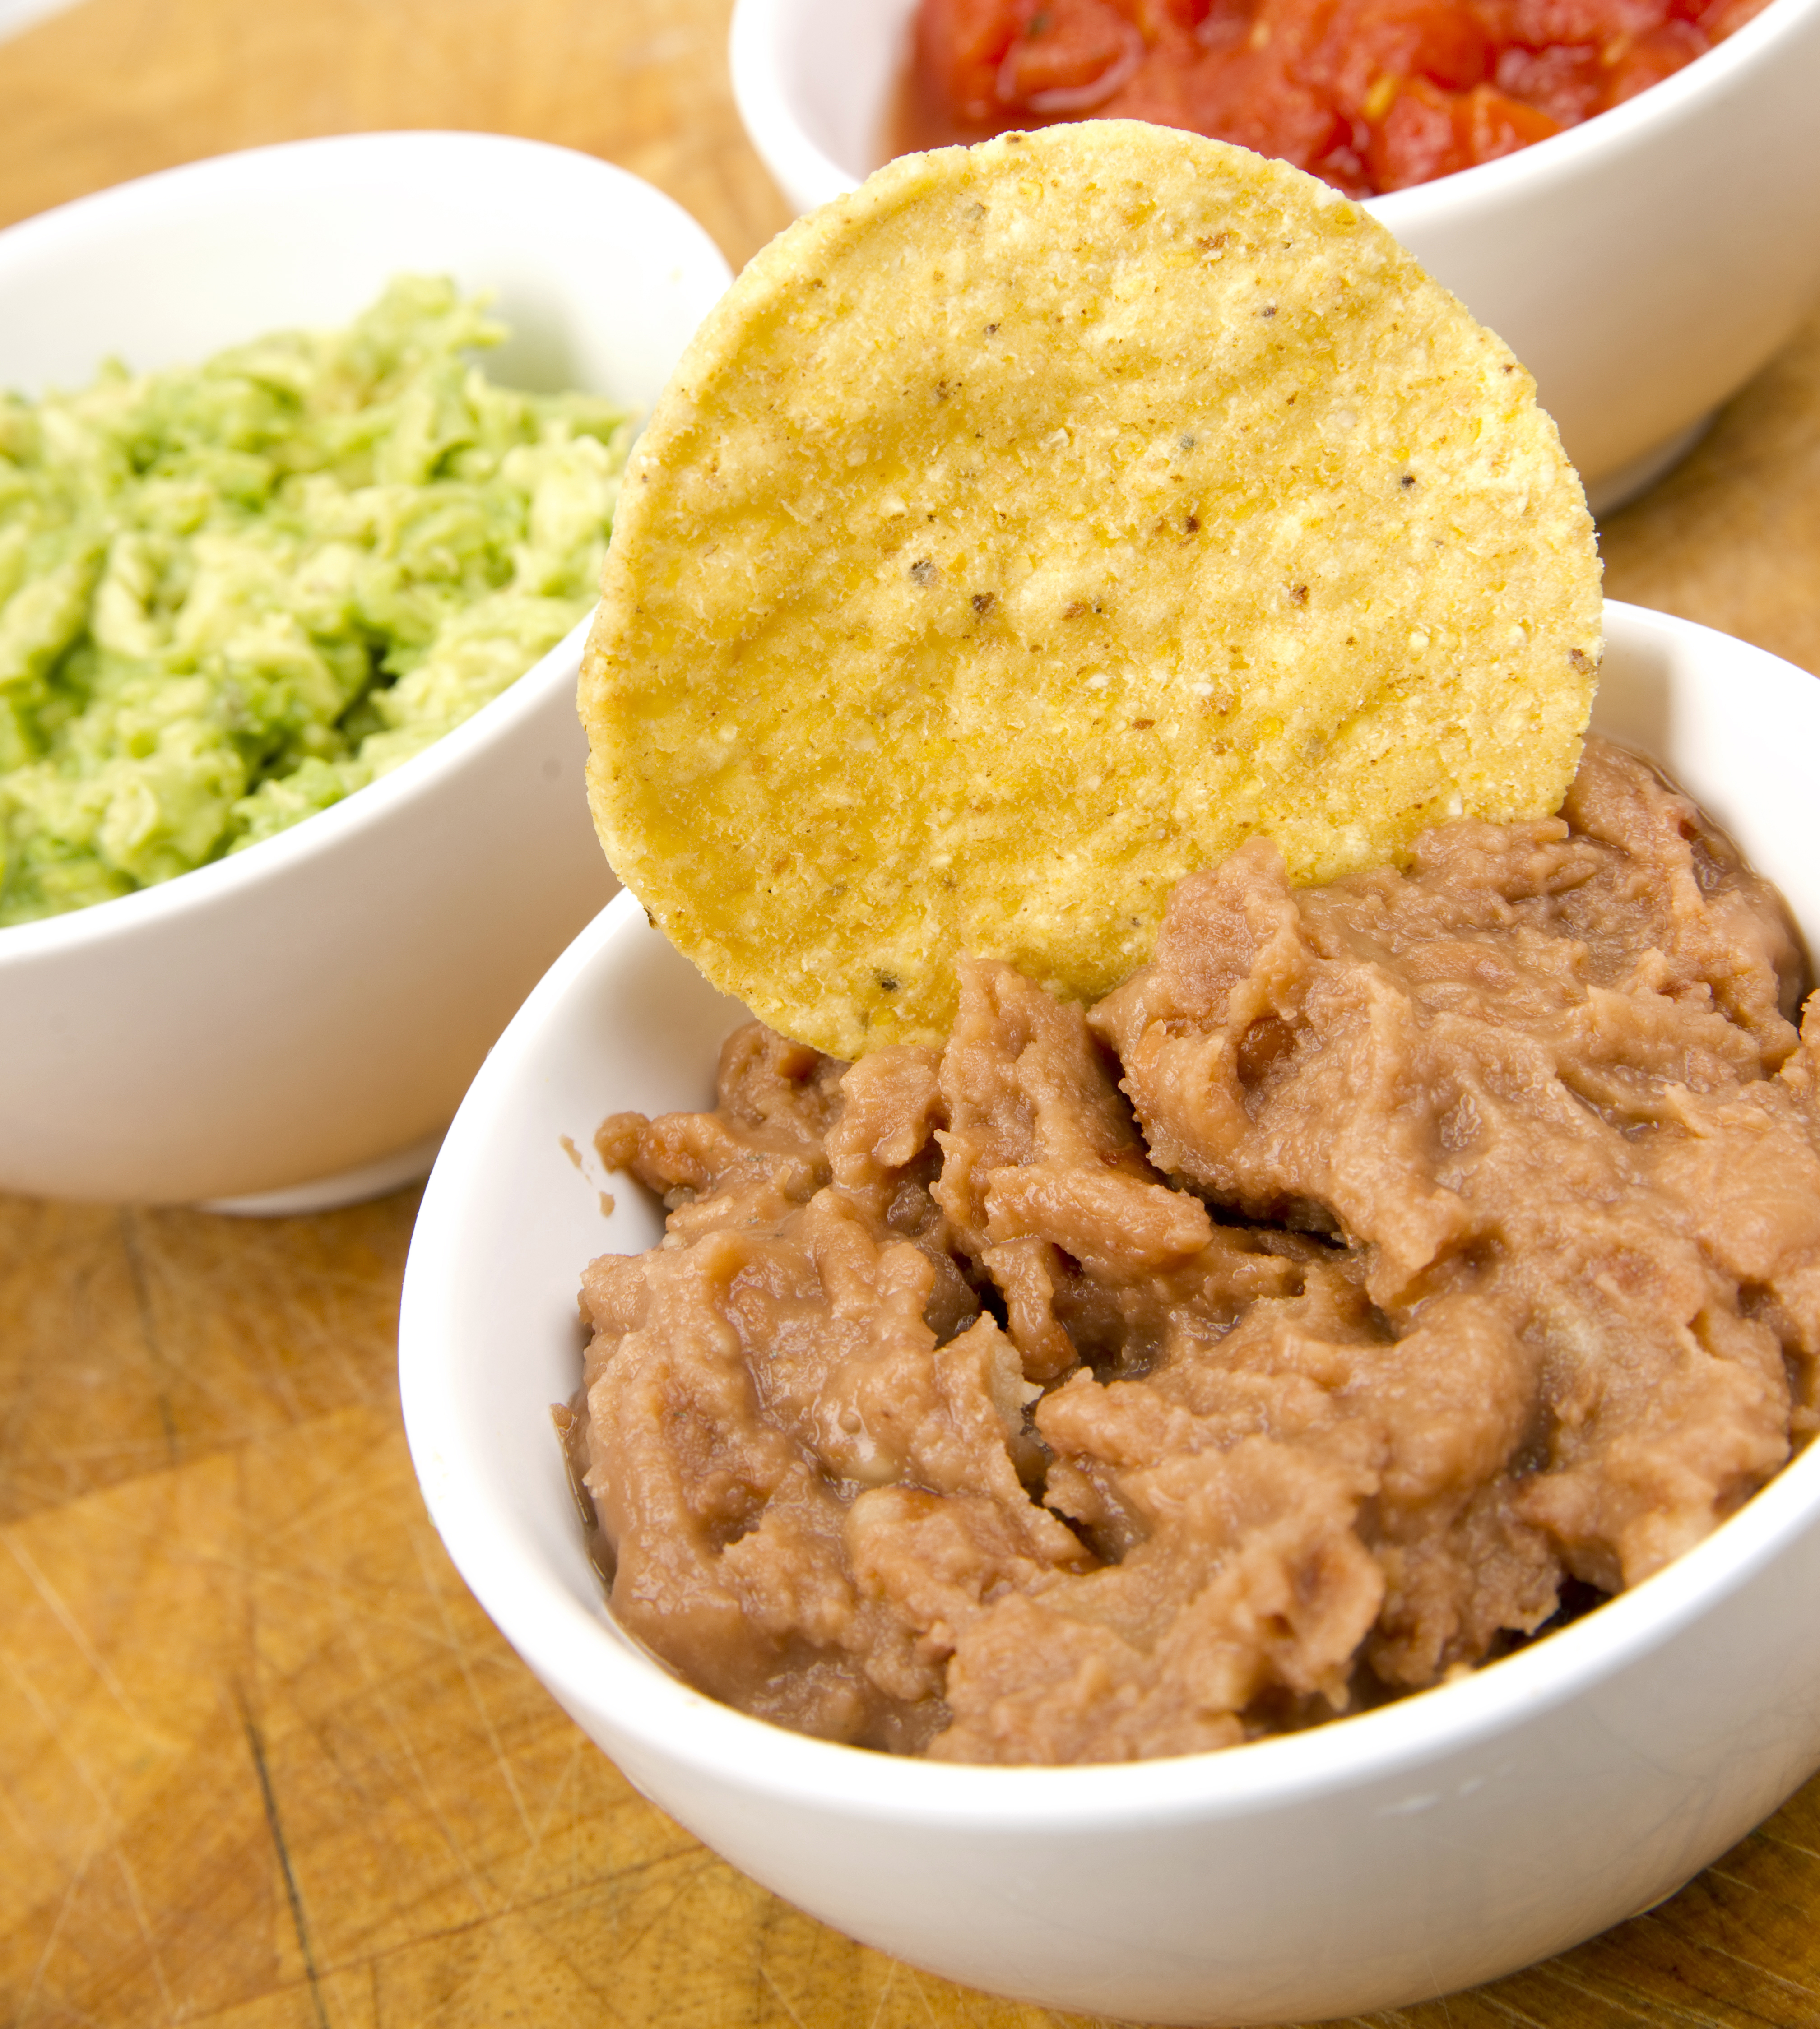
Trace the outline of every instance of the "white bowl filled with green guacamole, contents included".
{"label": "white bowl filled with green guacamole, contents included", "polygon": [[0,231],[0,1189],[422,1173],[613,893],[580,641],[726,278],[649,185],[495,134]]}

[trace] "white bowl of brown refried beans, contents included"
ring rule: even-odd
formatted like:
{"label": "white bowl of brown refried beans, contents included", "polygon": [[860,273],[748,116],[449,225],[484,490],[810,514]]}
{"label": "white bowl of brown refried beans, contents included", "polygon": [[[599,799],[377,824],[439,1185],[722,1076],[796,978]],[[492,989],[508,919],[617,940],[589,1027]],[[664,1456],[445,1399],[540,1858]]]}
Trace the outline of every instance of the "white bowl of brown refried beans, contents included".
{"label": "white bowl of brown refried beans, contents included", "polygon": [[1611,605],[1593,732],[1560,820],[1246,846],[1098,1008],[978,966],[852,1071],[603,911],[400,1357],[639,1790],[948,1978],[1280,2023],[1564,1950],[1820,1763],[1820,688]]}

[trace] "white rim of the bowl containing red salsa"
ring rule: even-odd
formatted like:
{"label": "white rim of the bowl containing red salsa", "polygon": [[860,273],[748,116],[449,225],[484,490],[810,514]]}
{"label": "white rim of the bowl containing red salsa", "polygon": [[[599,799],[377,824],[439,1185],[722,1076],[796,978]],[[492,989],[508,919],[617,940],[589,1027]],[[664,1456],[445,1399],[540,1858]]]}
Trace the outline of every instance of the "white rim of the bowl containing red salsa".
{"label": "white rim of the bowl containing red salsa", "polygon": [[[771,166],[775,158],[799,181],[826,187],[832,197],[836,187],[850,191],[858,185],[810,138],[783,89],[777,20],[789,4],[791,0],[734,0],[728,26],[732,95],[765,164]],[[1597,170],[1605,156],[1623,152],[1652,128],[1672,124],[1700,101],[1723,95],[1741,71],[1773,61],[1779,47],[1798,37],[1816,12],[1820,0],[1769,0],[1723,43],[1714,43],[1692,63],[1609,112],[1491,162],[1475,162],[1449,177],[1384,191],[1357,203],[1402,237],[1404,231],[1445,219],[1459,209],[1479,203],[1499,205],[1532,193],[1544,195],[1562,181],[1572,181],[1589,168]]]}

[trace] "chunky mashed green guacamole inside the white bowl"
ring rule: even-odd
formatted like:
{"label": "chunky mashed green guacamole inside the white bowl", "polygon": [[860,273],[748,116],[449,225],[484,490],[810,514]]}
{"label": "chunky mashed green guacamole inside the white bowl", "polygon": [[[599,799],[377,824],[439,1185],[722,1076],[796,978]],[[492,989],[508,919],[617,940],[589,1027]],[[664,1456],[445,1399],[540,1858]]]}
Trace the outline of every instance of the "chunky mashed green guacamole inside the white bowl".
{"label": "chunky mashed green guacamole inside the white bowl", "polygon": [[631,426],[400,278],[337,333],[0,394],[0,925],[308,818],[594,603]]}

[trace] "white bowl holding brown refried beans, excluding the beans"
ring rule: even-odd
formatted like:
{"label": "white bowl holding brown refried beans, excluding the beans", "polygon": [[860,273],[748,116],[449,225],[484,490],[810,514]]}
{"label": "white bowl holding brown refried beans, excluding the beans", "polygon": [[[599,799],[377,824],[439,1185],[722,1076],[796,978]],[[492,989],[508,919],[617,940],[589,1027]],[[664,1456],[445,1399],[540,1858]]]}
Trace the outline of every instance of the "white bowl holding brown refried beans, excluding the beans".
{"label": "white bowl holding brown refried beans, excluding the beans", "polygon": [[[1597,724],[1660,757],[1820,948],[1820,684],[1607,607]],[[653,1802],[779,1895],[933,1972],[1086,2015],[1280,2023],[1489,1980],[1658,1901],[1820,1761],[1820,1447],[1633,1593],[1477,1676],[1217,1755],[956,1767],[696,1694],[611,1621],[550,1404],[582,1262],[659,1234],[580,1148],[702,1106],[741,1010],[621,895],[505,1031],[404,1282],[412,1457],[481,1605]]]}

